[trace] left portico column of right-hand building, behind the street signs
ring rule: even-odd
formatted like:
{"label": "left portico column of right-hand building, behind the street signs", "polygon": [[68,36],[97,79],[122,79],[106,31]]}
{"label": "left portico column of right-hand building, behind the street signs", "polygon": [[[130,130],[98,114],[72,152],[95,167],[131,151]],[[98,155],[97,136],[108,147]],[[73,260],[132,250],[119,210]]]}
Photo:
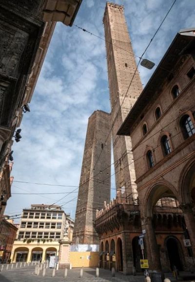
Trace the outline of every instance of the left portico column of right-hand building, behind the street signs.
{"label": "left portico column of right-hand building, behind the street signs", "polygon": [[144,234],[144,249],[146,250],[146,258],[148,260],[149,269],[161,271],[160,254],[156,243],[156,234],[152,224],[151,217],[141,218],[142,230],[145,229]]}

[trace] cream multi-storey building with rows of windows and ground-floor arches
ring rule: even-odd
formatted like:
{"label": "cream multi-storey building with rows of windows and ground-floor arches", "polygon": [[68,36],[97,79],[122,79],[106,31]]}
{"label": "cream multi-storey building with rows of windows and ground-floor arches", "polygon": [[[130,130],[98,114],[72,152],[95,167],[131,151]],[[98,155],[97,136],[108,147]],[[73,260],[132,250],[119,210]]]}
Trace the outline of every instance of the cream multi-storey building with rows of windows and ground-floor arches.
{"label": "cream multi-storey building with rows of windows and ground-floor arches", "polygon": [[56,205],[31,205],[23,209],[18,237],[11,260],[15,262],[46,261],[59,255],[59,242],[66,235],[70,240],[66,214]]}

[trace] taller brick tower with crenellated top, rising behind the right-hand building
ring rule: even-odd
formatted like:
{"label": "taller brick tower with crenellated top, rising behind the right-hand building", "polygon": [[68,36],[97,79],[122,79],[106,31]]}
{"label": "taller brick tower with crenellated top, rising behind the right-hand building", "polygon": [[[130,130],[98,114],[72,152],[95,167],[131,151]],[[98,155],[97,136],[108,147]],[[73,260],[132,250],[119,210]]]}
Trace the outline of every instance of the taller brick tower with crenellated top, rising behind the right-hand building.
{"label": "taller brick tower with crenellated top, rising behind the right-hand building", "polygon": [[107,2],[103,23],[112,110],[111,126],[113,127],[116,186],[117,190],[124,192],[124,195],[137,198],[131,139],[126,136],[117,136],[117,130],[141,93],[142,84],[137,71],[129,87],[136,70],[136,62],[125,22],[124,7]]}

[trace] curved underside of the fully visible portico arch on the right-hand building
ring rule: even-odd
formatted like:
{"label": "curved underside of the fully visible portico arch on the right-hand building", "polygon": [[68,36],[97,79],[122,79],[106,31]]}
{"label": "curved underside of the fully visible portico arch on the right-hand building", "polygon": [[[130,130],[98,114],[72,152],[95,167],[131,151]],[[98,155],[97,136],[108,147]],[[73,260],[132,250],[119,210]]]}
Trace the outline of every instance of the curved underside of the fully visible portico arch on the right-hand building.
{"label": "curved underside of the fully visible portico arch on the right-hand building", "polygon": [[153,207],[162,197],[177,197],[176,188],[166,180],[159,181],[148,190],[145,195],[145,204],[142,206],[141,213],[143,217],[152,217]]}

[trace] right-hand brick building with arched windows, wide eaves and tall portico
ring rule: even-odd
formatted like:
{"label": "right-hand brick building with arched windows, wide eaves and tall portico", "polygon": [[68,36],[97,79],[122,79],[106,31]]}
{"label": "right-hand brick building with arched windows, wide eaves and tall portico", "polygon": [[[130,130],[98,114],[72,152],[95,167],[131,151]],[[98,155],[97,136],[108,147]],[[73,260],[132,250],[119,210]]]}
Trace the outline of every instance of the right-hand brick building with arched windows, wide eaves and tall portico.
{"label": "right-hand brick building with arched windows, wide eaves and tall portico", "polygon": [[[170,268],[177,265],[179,270],[189,270],[194,265],[194,48],[195,29],[176,35],[118,132],[132,139],[141,227],[146,230],[146,254],[153,270],[162,269],[160,258],[169,249]],[[177,199],[184,232],[158,246],[154,207],[159,199],[167,198]],[[190,240],[190,249],[185,240]]]}

